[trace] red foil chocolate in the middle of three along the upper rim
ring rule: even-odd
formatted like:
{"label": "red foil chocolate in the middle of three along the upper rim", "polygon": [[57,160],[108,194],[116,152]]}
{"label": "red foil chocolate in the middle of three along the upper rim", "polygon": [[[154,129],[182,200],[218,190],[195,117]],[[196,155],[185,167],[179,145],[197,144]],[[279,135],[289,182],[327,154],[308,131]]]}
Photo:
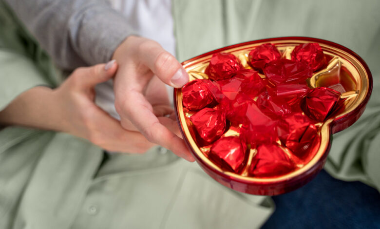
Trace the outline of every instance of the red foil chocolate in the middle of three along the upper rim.
{"label": "red foil chocolate in the middle of three along the upper rim", "polygon": [[249,52],[248,63],[252,68],[262,71],[267,63],[280,58],[281,54],[276,46],[266,43]]}

